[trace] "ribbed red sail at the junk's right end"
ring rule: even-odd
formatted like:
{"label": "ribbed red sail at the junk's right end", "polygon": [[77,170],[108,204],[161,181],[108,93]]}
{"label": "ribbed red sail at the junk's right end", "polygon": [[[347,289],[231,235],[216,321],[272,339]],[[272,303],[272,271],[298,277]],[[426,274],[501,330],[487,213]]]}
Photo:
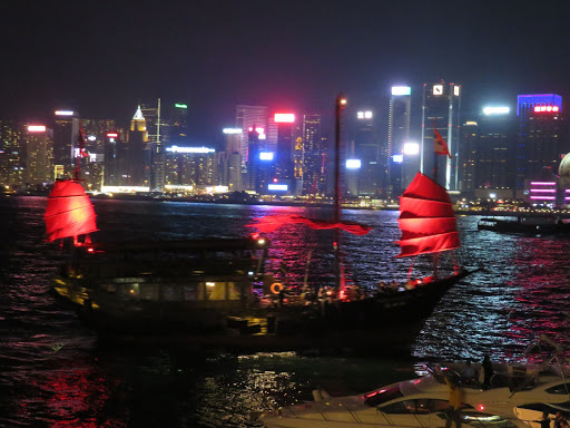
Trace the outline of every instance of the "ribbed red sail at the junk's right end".
{"label": "ribbed red sail at the junk's right end", "polygon": [[417,173],[400,197],[399,257],[460,246],[455,214],[444,187]]}

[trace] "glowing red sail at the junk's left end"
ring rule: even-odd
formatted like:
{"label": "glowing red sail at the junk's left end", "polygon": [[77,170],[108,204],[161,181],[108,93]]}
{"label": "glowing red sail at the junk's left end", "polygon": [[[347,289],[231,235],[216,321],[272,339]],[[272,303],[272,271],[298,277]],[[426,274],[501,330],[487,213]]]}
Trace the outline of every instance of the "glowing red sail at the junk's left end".
{"label": "glowing red sail at the junk's left end", "polygon": [[89,196],[80,184],[71,179],[53,184],[45,218],[49,242],[97,231],[95,210]]}

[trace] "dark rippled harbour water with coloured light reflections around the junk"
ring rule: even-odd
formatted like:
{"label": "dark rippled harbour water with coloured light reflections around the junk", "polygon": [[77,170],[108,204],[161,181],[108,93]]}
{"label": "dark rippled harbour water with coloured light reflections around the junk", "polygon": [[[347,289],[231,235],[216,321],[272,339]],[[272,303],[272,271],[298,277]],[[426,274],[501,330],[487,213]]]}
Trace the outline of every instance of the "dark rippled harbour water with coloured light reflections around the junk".
{"label": "dark rippled harbour water with coloured light reflections around the junk", "polygon": [[[485,270],[454,286],[426,321],[411,361],[235,356],[196,349],[108,349],[48,292],[58,265],[42,242],[45,198],[0,200],[1,427],[257,427],[249,412],[372,389],[413,376],[412,361],[510,361],[539,333],[568,344],[568,239],[478,232],[479,217],[459,218],[458,259]],[[100,240],[243,236],[254,217],[303,208],[95,201]],[[308,215],[326,217],[327,210]],[[409,261],[394,259],[396,212],[346,211],[374,226],[343,235],[347,270],[360,284],[405,279]],[[333,233],[285,226],[269,235],[273,265],[287,263],[302,282],[309,250],[311,283],[332,283]],[[426,265],[419,263],[419,270]],[[379,340],[379,338],[371,338]],[[381,338],[380,338],[381,340]]]}

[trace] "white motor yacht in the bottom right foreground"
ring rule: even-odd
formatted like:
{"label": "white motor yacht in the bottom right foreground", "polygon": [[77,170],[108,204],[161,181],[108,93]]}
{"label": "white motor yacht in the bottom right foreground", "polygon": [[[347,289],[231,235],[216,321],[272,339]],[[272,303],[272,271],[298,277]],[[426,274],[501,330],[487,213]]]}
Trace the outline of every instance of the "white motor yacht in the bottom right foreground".
{"label": "white motor yacht in the bottom right foreground", "polygon": [[550,419],[558,411],[570,412],[569,367],[549,360],[532,367],[494,364],[494,369],[487,386],[482,377],[464,379],[453,368],[440,367],[428,376],[355,396],[330,397],[315,390],[315,401],[266,411],[259,419],[267,428],[443,428],[451,417],[451,386],[460,388],[458,417],[466,426],[540,428],[542,412]]}

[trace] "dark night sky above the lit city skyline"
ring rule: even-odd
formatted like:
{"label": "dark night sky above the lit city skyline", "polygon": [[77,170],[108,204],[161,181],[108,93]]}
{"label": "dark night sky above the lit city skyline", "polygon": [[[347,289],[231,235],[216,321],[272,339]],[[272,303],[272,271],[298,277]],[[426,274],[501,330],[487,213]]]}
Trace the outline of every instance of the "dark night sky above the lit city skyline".
{"label": "dark night sky above the lit city skyline", "polygon": [[465,103],[570,90],[563,1],[2,1],[0,117],[56,108],[119,124],[187,101],[194,136],[236,104],[331,109],[444,78]]}

